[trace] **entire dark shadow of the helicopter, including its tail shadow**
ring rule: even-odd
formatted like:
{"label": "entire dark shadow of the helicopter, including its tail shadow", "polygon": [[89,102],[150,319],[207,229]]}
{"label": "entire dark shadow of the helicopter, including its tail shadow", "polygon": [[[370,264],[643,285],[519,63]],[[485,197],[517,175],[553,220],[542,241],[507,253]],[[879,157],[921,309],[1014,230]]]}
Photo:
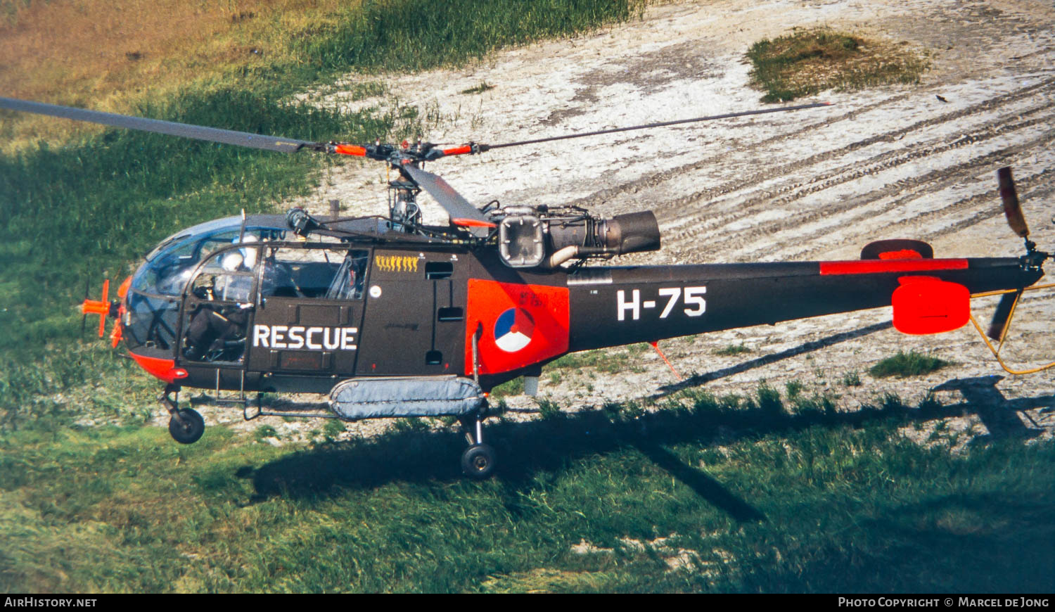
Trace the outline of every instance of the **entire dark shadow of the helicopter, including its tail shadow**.
{"label": "entire dark shadow of the helicopter, including its tail shadow", "polygon": [[[763,407],[728,410],[660,409],[638,418],[625,418],[605,409],[558,414],[528,422],[502,421],[485,429],[485,441],[495,446],[495,478],[501,483],[507,509],[520,512],[523,493],[552,480],[579,459],[619,451],[636,451],[671,477],[690,487],[701,499],[733,519],[764,521],[765,515],[733,493],[698,463],[690,464],[672,450],[691,442],[706,446],[729,443],[734,437],[791,434],[808,427],[861,427],[868,422],[898,419],[905,423],[978,415],[990,427],[989,436],[1029,437],[1040,427],[1028,427],[1017,413],[1055,404],[1055,396],[1006,400],[995,388],[1001,377],[954,379],[937,389],[959,389],[957,404],[924,402],[908,407],[897,402],[865,405],[852,413],[812,410],[789,415]],[[995,394],[995,395],[994,395]],[[995,403],[994,403],[995,402]],[[1010,419],[1019,423],[1013,426]],[[1004,423],[1001,425],[1000,423]],[[464,438],[454,431],[403,427],[372,439],[320,444],[260,467],[244,466],[237,476],[252,480],[250,503],[274,496],[319,498],[347,490],[369,490],[391,482],[465,482],[457,458]]]}

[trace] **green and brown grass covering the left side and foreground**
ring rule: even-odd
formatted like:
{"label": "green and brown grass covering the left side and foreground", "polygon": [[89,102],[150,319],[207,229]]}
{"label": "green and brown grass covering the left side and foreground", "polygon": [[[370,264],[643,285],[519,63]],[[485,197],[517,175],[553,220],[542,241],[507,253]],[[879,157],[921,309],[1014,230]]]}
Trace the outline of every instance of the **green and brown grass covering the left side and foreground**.
{"label": "green and brown grass covering the left side and foreground", "polygon": [[[639,11],[4,0],[0,83],[5,95],[296,138],[398,137],[419,129],[398,108],[342,115],[290,94]],[[49,65],[63,70],[41,70],[34,54],[62,37],[68,57]],[[768,386],[574,415],[545,402],[538,420],[488,428],[501,463],[483,483],[457,468],[460,435],[420,420],[348,442],[327,423],[316,442],[281,447],[264,441],[276,432],[211,426],[180,446],[145,425],[156,381],[77,341],[84,281],[96,292],[103,274],[123,278],[179,227],[272,210],[332,161],[2,118],[4,592],[1055,589],[1052,444],[902,435],[962,406],[887,397],[844,414]],[[646,349],[569,356],[554,372],[614,374]]]}

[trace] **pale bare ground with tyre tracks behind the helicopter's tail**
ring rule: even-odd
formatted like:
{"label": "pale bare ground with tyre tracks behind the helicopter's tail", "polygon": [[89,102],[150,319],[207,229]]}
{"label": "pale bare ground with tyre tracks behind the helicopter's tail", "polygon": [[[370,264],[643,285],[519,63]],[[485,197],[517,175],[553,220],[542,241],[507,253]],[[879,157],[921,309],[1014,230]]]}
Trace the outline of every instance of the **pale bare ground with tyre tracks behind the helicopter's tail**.
{"label": "pale bare ground with tyre tracks behind the helicopter's tail", "polygon": [[[1055,249],[1053,23],[1051,3],[1031,1],[675,3],[592,36],[504,52],[465,70],[394,76],[388,85],[401,103],[442,117],[429,140],[500,142],[760,108],[743,54],[792,26],[904,41],[931,58],[918,85],[826,92],[816,100],[835,102],[828,109],[503,149],[430,170],[478,205],[499,198],[573,203],[606,215],[654,210],[663,250],[621,264],[857,259],[864,244],[889,237],[925,240],[937,256],[1017,255],[1021,241],[1004,225],[996,195],[1001,166],[1014,167],[1032,237]],[[481,82],[494,89],[460,93]],[[340,95],[327,99],[341,103]],[[318,212],[334,197],[352,212],[385,210],[382,168],[352,166],[327,178],[307,202]],[[443,219],[433,208],[429,221]],[[983,324],[994,303],[976,301]],[[1005,348],[1005,359],[1023,367],[1055,359],[1053,318],[1055,293],[1025,300],[1010,340],[1019,348]],[[835,394],[843,409],[853,409],[884,393],[917,402],[934,391],[946,403],[986,405],[972,410],[980,420],[962,419],[976,433],[1046,426],[1050,435],[1055,370],[996,378],[1005,375],[970,325],[920,338],[900,334],[888,321],[881,309],[661,347],[683,374],[699,375],[694,384],[716,395],[749,394],[762,380],[779,388],[799,381],[805,395]],[[731,344],[751,351],[713,353]],[[915,379],[866,374],[898,349],[957,365]],[[651,351],[634,359],[642,371],[565,370],[559,381],[546,372],[540,393],[573,409],[664,395],[674,380],[670,370]],[[846,386],[853,371],[862,384]]]}

